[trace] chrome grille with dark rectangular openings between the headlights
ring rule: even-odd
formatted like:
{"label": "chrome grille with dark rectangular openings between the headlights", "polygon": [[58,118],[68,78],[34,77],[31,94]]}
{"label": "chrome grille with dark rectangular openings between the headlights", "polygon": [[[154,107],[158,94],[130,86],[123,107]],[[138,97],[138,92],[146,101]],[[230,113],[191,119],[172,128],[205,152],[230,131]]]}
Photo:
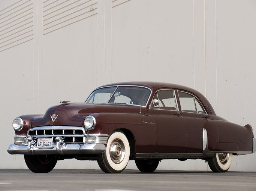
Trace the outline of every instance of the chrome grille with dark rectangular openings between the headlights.
{"label": "chrome grille with dark rectangular openings between the headlights", "polygon": [[64,143],[84,143],[86,133],[82,127],[42,126],[29,129],[27,135],[36,138],[53,137],[53,143],[56,143],[56,137],[62,137]]}

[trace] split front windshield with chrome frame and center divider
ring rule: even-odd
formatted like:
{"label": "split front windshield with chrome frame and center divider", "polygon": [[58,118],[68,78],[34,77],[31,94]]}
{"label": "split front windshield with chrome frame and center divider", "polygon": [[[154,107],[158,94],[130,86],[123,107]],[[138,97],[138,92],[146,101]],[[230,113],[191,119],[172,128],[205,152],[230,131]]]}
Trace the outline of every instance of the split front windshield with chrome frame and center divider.
{"label": "split front windshield with chrome frame and center divider", "polygon": [[146,106],[150,90],[143,87],[115,86],[100,88],[85,103],[133,104]]}

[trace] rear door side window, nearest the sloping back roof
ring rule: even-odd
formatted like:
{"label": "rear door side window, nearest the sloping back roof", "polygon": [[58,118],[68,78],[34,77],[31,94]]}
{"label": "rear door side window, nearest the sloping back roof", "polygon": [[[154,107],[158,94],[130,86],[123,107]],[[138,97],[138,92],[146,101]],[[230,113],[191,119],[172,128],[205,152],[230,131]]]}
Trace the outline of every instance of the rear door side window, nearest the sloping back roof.
{"label": "rear door side window, nearest the sloping back roof", "polygon": [[205,113],[204,108],[202,107],[201,103],[195,96],[189,93],[185,93],[183,91],[178,91],[178,94],[180,98],[181,111]]}

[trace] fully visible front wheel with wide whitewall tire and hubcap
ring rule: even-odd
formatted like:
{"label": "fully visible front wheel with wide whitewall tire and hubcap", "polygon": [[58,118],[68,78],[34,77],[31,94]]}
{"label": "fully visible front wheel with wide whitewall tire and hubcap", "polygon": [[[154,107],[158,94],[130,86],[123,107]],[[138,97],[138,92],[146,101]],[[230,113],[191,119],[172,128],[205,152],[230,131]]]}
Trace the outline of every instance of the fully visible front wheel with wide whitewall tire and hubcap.
{"label": "fully visible front wheel with wide whitewall tire and hubcap", "polygon": [[113,132],[107,142],[106,151],[97,155],[100,169],[105,173],[121,173],[130,158],[130,145],[122,131]]}

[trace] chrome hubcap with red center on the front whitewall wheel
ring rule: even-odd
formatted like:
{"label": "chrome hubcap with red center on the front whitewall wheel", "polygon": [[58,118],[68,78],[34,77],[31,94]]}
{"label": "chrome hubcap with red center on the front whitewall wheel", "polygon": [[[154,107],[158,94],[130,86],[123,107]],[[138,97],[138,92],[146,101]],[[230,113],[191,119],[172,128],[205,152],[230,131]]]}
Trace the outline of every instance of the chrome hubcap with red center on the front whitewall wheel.
{"label": "chrome hubcap with red center on the front whitewall wheel", "polygon": [[124,160],[125,155],[125,147],[123,141],[120,139],[115,139],[110,145],[109,154],[111,160],[115,164],[121,163]]}

